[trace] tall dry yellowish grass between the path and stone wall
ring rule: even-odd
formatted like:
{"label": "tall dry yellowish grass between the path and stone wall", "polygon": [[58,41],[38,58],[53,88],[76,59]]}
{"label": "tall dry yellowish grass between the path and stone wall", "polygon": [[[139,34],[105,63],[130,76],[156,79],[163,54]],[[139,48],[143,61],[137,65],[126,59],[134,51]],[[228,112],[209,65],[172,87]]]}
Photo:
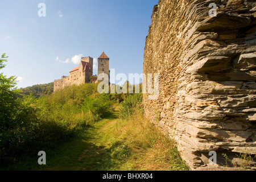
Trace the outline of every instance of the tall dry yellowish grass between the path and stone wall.
{"label": "tall dry yellowish grass between the path and stone wall", "polygon": [[[189,170],[180,158],[176,144],[158,127],[143,118],[142,95],[122,102],[118,122],[109,129],[111,170],[176,171]],[[128,113],[128,114],[127,114]]]}

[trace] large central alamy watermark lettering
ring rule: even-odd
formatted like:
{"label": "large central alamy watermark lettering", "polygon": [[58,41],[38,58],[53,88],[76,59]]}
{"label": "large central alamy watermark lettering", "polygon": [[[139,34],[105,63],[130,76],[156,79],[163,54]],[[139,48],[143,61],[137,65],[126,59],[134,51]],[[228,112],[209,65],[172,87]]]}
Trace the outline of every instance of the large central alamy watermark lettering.
{"label": "large central alamy watermark lettering", "polygon": [[[137,84],[133,86],[120,86],[123,81],[127,80],[127,76],[124,73],[119,73],[115,76],[115,69],[111,69],[112,77],[115,78],[115,81],[119,81],[117,85],[111,85],[109,90],[109,76],[106,73],[101,73],[98,75],[98,81],[101,81],[98,84],[98,93],[140,93],[140,85]],[[154,79],[153,79],[154,75]],[[134,85],[135,82],[139,83],[142,80],[142,93],[150,94],[148,100],[157,100],[159,97],[159,74],[158,73],[129,73],[129,84]],[[135,82],[134,82],[135,80]]]}

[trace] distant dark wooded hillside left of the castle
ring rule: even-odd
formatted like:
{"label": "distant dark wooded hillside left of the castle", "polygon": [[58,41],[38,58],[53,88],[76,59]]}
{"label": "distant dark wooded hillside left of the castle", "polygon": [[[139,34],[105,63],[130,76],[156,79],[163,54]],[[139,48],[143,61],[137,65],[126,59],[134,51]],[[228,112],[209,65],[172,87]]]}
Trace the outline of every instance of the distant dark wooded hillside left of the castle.
{"label": "distant dark wooded hillside left of the castle", "polygon": [[26,88],[21,88],[22,94],[25,96],[33,93],[36,98],[41,96],[47,96],[53,93],[53,82],[49,84],[33,85]]}

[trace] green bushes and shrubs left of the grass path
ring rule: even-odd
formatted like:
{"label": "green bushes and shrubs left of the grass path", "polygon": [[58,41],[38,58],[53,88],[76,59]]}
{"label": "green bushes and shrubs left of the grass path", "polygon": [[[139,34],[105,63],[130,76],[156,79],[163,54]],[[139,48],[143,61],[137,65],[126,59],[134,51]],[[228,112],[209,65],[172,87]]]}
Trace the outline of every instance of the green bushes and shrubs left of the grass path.
{"label": "green bushes and shrubs left of the grass path", "polygon": [[[0,69],[6,58],[1,56]],[[73,85],[36,98],[22,96],[15,77],[1,73],[0,82],[0,168],[66,142],[110,114],[114,103],[97,93],[96,84]]]}

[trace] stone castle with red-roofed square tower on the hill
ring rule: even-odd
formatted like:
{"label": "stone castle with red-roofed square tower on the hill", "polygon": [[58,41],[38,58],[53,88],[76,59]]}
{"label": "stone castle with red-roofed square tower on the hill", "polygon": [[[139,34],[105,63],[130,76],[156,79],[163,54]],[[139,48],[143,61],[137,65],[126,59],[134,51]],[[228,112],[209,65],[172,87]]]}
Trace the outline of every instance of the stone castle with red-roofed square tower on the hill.
{"label": "stone castle with red-roofed square tower on the hill", "polygon": [[[105,73],[109,76],[109,57],[103,52],[98,57],[98,75]],[[92,79],[93,76],[93,58],[82,57],[79,67],[73,68],[69,72],[69,76],[62,76],[60,80],[54,80],[53,92],[63,89],[65,86],[80,85],[91,83],[96,80]]]}

